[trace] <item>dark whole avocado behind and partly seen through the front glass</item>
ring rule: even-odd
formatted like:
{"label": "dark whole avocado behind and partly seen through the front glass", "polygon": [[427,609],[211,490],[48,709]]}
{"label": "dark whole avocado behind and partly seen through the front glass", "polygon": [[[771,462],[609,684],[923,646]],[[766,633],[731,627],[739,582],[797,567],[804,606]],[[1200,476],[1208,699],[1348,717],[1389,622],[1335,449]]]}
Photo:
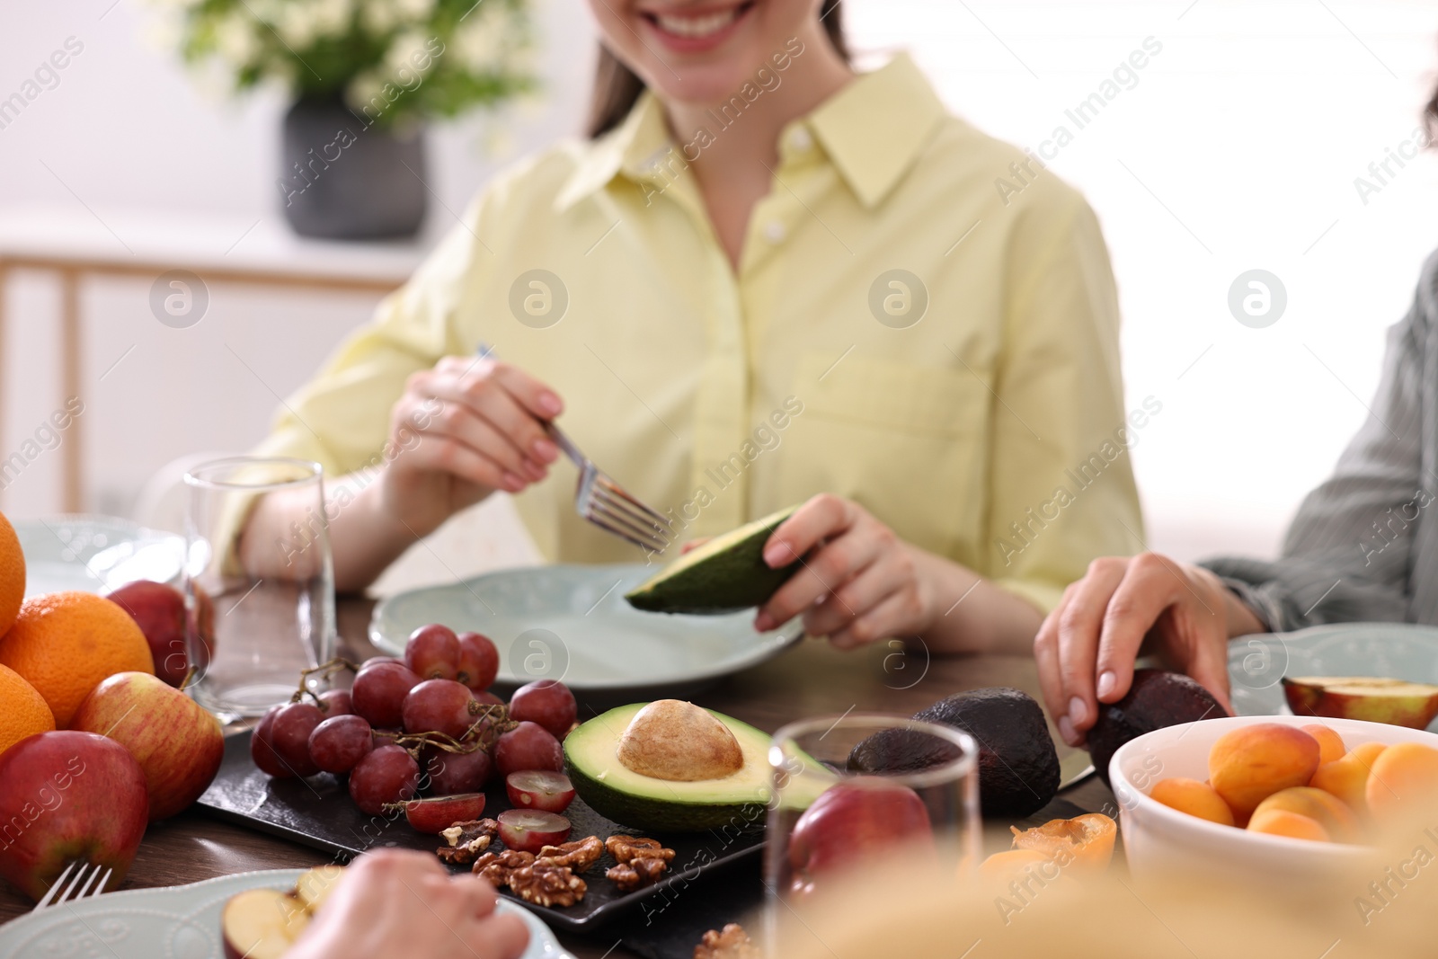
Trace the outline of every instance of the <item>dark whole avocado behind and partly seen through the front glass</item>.
{"label": "dark whole avocado behind and partly seen through the front glass", "polygon": [[[979,804],[986,817],[1024,818],[1058,794],[1058,751],[1044,710],[1022,690],[975,689],[940,699],[913,715],[974,736],[979,746]],[[953,759],[956,749],[905,729],[874,733],[854,746],[858,772],[917,772]]]}

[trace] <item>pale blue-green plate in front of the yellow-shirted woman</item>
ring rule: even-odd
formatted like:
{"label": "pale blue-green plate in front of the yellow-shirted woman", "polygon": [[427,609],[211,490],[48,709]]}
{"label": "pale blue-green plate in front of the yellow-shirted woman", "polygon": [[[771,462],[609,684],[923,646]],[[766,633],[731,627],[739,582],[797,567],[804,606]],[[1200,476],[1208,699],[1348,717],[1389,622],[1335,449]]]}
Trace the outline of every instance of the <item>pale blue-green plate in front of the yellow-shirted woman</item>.
{"label": "pale blue-green plate in front of the yellow-shirted woman", "polygon": [[640,612],[624,594],[653,566],[531,566],[401,592],[380,602],[370,638],[385,653],[426,623],[483,633],[499,647],[499,682],[559,679],[577,690],[640,693],[702,684],[762,663],[802,634],[795,620],[754,631],[754,611]]}

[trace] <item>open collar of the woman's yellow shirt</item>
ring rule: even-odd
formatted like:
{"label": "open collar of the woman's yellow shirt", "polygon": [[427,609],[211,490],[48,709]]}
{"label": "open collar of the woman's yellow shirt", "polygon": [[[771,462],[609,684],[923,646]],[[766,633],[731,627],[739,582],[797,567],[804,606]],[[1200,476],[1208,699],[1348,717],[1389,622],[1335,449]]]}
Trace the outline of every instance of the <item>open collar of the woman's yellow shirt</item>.
{"label": "open collar of the woman's yellow shirt", "polygon": [[[784,131],[808,127],[854,196],[873,207],[913,165],[945,115],[933,86],[906,53],[861,73],[808,116]],[[781,138],[781,142],[784,138]],[[673,148],[664,111],[644,91],[624,122],[582,148],[581,160],[557,198],[567,210],[624,174],[641,181]]]}

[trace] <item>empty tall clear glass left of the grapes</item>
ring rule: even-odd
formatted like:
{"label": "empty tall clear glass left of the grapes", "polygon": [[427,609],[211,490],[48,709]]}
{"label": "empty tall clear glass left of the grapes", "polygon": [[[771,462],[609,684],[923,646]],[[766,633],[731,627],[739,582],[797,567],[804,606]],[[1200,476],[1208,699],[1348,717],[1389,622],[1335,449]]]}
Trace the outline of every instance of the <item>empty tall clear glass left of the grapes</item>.
{"label": "empty tall clear glass left of the grapes", "polygon": [[[196,466],[184,477],[186,634],[196,702],[221,720],[259,716],[288,700],[301,670],[335,650],[335,574],[325,519],[324,469],[286,457],[239,456]],[[240,528],[262,496],[296,508],[275,543],[283,575],[256,577],[236,554]]]}

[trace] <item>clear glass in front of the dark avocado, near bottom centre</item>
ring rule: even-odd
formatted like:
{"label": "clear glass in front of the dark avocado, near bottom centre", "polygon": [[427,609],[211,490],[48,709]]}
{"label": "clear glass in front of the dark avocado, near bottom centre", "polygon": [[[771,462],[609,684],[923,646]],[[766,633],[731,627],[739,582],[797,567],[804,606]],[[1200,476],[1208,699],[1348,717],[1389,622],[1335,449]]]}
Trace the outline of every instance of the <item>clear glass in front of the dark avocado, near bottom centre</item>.
{"label": "clear glass in front of the dark avocado, near bottom centre", "polygon": [[[851,771],[860,743],[884,758],[877,765],[897,761],[910,771]],[[978,745],[966,733],[903,716],[805,719],[774,733],[769,774],[764,874],[771,953],[778,922],[802,922],[814,893],[846,877],[861,880],[866,867],[900,860],[936,866],[951,878],[975,867]]]}

